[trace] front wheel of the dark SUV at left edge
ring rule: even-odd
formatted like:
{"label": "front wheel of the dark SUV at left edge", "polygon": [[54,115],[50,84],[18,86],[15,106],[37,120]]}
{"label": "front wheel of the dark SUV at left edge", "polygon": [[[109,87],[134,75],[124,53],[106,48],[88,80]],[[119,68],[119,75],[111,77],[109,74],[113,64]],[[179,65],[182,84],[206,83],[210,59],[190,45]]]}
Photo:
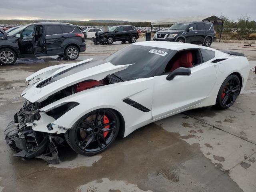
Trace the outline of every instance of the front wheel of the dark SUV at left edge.
{"label": "front wheel of the dark SUV at left edge", "polygon": [[9,48],[0,49],[0,64],[13,65],[17,60],[16,53]]}

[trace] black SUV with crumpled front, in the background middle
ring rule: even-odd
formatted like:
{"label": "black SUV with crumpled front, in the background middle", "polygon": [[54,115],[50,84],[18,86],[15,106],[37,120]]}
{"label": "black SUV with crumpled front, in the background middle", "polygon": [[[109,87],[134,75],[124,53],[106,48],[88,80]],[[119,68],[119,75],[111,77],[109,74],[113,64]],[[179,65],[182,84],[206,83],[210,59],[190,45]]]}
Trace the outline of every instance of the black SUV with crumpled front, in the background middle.
{"label": "black SUV with crumpled front, in the background middle", "polygon": [[92,38],[93,42],[108,44],[114,41],[135,43],[139,38],[138,30],[131,25],[112,26],[109,27],[108,32],[96,32],[95,36]]}

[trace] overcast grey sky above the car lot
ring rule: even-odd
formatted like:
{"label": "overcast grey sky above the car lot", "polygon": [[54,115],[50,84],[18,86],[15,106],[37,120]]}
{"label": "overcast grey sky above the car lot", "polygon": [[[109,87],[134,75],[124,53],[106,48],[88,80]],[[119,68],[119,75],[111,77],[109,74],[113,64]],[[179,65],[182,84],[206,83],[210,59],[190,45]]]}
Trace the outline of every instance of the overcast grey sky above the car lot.
{"label": "overcast grey sky above the car lot", "polygon": [[184,16],[256,20],[256,0],[0,0],[0,19],[152,21]]}

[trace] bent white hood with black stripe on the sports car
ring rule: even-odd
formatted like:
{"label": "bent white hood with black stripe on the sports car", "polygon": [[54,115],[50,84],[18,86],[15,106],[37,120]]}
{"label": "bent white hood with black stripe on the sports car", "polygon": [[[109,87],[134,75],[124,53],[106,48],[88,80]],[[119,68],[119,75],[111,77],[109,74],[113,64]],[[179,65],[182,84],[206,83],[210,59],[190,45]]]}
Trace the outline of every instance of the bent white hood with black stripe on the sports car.
{"label": "bent white hood with black stripe on the sports car", "polygon": [[33,103],[42,102],[48,96],[68,86],[85,80],[102,80],[107,75],[124,70],[130,65],[113,65],[102,60],[91,60],[63,66],[46,78],[28,86],[21,96]]}

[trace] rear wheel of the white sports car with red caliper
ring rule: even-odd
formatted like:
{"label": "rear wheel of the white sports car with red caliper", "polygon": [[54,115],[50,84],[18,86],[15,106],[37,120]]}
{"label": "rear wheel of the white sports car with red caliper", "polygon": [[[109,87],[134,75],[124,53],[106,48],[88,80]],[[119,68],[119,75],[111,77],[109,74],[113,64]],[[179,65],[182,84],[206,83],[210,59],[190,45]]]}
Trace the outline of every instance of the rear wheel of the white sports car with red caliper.
{"label": "rear wheel of the white sports car with red caliper", "polygon": [[236,75],[228,76],[222,83],[216,99],[216,106],[227,109],[234,104],[240,92],[240,80]]}

